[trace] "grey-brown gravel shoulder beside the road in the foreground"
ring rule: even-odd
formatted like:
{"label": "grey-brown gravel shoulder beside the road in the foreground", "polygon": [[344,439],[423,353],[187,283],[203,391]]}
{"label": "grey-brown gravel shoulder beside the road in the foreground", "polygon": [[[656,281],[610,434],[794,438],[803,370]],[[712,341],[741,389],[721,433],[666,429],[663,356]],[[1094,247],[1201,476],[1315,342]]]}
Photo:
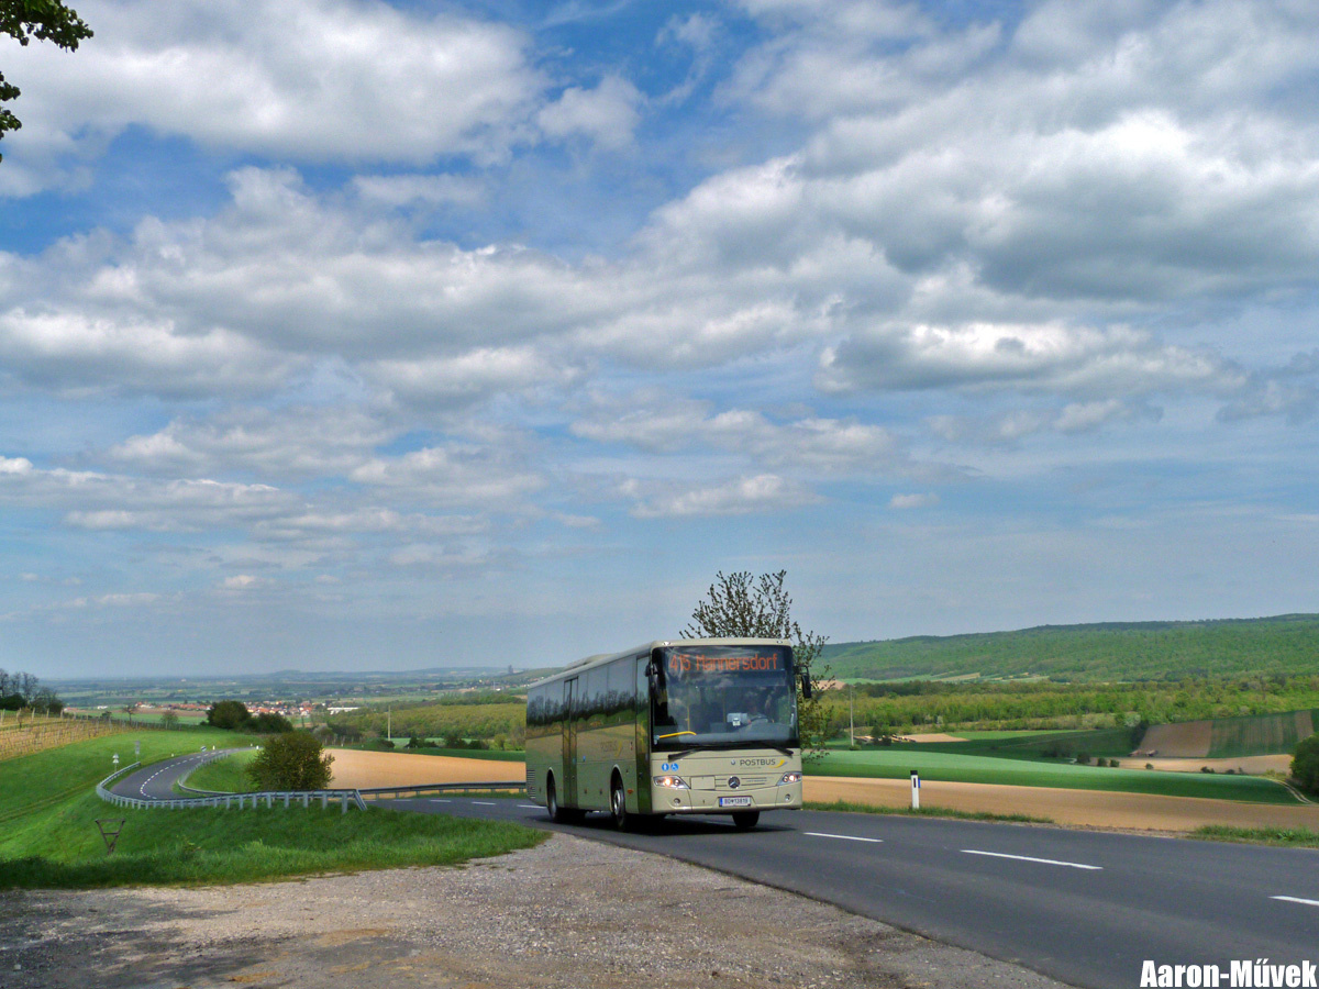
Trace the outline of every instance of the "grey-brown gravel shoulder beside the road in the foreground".
{"label": "grey-brown gravel shoulder beside the road in the foreground", "polygon": [[4,989],[1060,984],[835,907],[555,835],[463,868],[0,894]]}

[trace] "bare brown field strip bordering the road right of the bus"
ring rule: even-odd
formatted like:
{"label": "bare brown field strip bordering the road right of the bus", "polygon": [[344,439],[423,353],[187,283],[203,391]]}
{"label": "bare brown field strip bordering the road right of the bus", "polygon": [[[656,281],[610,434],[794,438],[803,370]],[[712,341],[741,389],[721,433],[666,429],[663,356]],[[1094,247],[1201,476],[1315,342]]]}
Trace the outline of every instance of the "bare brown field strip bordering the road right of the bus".
{"label": "bare brown field strip bordering the road right of the bus", "polygon": [[[906,779],[806,777],[807,800],[849,800],[876,807],[910,807]],[[1319,831],[1319,806],[1287,807],[1196,796],[1155,796],[1104,790],[1060,790],[1043,786],[991,786],[921,781],[922,807],[988,814],[1028,814],[1059,824],[1122,831],[1194,831],[1204,824],[1239,828],[1311,828]]]}

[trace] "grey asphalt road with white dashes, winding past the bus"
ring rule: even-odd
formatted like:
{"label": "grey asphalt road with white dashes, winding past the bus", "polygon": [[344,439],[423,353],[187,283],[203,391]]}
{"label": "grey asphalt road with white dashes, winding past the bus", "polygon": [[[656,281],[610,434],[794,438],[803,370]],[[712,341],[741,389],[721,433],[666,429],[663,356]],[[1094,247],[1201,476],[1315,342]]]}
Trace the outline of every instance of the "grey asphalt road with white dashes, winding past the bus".
{"label": "grey asphalt road with white dashes, winding past the bus", "polygon": [[[166,798],[198,756],[113,789]],[[525,798],[384,806],[516,820],[791,890],[1078,986],[1130,989],[1141,967],[1319,961],[1319,852],[1093,831],[822,811],[669,818],[620,833],[604,814],[558,825]],[[1224,976],[1224,985],[1227,985]]]}

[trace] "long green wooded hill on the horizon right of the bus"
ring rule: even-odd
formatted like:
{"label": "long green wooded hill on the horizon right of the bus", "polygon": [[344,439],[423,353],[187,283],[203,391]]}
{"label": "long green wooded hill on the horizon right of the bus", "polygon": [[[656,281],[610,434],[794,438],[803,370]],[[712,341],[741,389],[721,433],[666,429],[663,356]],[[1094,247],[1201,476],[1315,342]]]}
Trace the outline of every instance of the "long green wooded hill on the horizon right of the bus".
{"label": "long green wooded hill on the horizon right of the bus", "polygon": [[835,676],[876,680],[1049,676],[1103,682],[1319,674],[1319,614],[1041,625],[1018,632],[839,642],[824,646],[823,658]]}

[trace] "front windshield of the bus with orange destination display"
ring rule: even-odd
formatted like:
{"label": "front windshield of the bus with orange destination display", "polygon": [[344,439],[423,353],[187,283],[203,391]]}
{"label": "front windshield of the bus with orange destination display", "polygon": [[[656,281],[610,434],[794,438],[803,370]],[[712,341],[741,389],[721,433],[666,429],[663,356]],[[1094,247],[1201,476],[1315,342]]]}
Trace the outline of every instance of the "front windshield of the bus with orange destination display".
{"label": "front windshield of the bus with orange destination display", "polygon": [[670,646],[660,651],[654,749],[797,745],[786,646]]}

